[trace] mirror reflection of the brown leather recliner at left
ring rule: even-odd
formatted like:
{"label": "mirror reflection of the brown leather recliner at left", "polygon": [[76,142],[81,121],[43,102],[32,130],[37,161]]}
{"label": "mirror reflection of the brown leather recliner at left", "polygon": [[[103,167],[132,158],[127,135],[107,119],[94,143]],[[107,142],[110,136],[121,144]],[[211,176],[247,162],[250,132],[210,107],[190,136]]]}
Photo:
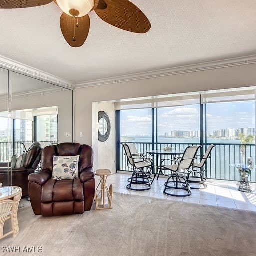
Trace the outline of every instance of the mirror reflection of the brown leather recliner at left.
{"label": "mirror reflection of the brown leather recliner at left", "polygon": [[[9,185],[21,187],[22,198],[28,197],[28,176],[37,168],[41,150],[39,142],[32,143],[26,153],[24,165],[12,170],[9,168]],[[8,163],[0,163],[0,182],[3,186],[8,185]]]}

